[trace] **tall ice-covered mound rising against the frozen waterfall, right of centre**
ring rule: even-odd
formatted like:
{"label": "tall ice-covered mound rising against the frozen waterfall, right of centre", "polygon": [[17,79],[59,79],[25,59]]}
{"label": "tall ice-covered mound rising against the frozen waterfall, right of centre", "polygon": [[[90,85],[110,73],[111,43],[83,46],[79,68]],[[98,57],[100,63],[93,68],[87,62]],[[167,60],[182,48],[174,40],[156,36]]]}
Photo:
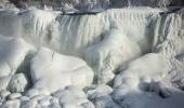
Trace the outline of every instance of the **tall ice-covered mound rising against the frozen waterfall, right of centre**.
{"label": "tall ice-covered mound rising against the frozen waterfall, right of centre", "polygon": [[104,39],[86,53],[86,60],[93,67],[98,83],[107,83],[114,77],[115,70],[128,60],[141,55],[139,45],[118,29],[109,30]]}

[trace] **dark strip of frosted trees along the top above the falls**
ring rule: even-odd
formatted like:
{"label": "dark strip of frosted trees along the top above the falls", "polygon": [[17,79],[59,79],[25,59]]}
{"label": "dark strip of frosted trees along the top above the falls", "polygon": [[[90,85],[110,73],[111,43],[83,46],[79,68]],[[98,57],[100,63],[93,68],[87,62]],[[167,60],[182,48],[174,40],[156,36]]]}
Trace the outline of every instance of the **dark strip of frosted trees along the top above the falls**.
{"label": "dark strip of frosted trees along the top above the falls", "polygon": [[[80,3],[83,3],[84,1],[91,1],[91,2],[100,2],[104,3],[105,0],[9,0],[10,2],[14,3],[17,8],[24,6],[24,4],[28,5],[51,5],[54,8],[61,6],[64,3],[76,3],[80,1]],[[107,1],[107,0],[106,0]],[[145,5],[145,6],[183,6],[184,0],[108,0],[109,6],[111,8],[122,8],[127,6],[129,2],[132,3],[132,5]]]}

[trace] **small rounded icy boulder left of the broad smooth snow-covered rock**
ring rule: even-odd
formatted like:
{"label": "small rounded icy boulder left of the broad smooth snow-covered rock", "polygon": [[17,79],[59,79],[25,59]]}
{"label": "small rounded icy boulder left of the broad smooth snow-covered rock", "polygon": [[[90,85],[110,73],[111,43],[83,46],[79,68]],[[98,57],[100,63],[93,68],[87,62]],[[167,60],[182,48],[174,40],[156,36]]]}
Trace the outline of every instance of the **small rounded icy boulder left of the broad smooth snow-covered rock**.
{"label": "small rounded icy boulder left of the broad smooth snow-covered rock", "polygon": [[27,78],[24,73],[16,73],[12,76],[8,90],[12,93],[16,92],[25,92],[26,87],[28,85]]}

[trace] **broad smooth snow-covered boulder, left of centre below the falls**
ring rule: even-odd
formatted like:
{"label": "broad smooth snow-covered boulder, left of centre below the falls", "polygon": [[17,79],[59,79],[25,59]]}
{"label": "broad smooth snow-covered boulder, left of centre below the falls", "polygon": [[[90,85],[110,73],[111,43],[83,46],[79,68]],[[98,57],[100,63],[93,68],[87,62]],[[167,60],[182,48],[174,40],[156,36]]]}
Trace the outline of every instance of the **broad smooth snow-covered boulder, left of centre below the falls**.
{"label": "broad smooth snow-covered boulder, left of centre below the falls", "polygon": [[67,85],[91,85],[93,71],[80,58],[41,48],[31,59],[31,78],[35,87],[47,87],[52,93]]}

